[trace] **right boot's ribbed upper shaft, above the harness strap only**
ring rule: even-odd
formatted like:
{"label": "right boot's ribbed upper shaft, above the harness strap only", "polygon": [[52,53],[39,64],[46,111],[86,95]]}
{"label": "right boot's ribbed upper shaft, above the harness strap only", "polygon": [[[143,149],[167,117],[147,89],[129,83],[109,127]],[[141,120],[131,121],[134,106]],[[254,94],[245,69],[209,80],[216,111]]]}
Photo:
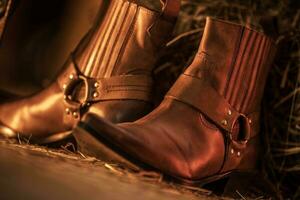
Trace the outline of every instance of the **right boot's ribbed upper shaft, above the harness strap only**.
{"label": "right boot's ribbed upper shaft, above the harness strap only", "polygon": [[259,110],[275,55],[272,39],[250,28],[207,19],[199,51],[186,74],[203,76],[241,113]]}

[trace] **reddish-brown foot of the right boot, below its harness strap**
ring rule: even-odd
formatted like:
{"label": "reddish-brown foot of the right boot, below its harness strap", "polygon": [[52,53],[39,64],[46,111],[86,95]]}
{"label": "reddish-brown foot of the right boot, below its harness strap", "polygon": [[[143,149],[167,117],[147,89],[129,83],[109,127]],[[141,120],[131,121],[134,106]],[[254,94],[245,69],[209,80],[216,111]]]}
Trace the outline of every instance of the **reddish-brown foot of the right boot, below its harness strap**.
{"label": "reddish-brown foot of the right boot, below its harness strap", "polygon": [[133,157],[173,176],[201,179],[217,173],[224,159],[224,138],[193,108],[165,100],[135,123],[119,125],[119,135],[104,137]]}

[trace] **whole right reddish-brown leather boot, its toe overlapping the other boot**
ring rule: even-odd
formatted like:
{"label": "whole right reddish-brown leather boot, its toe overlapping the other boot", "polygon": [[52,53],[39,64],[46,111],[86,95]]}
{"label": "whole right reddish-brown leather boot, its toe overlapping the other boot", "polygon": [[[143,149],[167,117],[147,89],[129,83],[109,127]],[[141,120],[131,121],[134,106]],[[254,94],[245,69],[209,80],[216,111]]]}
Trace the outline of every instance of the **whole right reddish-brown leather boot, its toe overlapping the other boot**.
{"label": "whole right reddish-brown leather boot, its toe overlapping the other boot", "polygon": [[118,125],[88,114],[74,136],[84,153],[148,166],[184,183],[252,171],[274,53],[273,41],[262,33],[208,18],[198,54],[158,108]]}

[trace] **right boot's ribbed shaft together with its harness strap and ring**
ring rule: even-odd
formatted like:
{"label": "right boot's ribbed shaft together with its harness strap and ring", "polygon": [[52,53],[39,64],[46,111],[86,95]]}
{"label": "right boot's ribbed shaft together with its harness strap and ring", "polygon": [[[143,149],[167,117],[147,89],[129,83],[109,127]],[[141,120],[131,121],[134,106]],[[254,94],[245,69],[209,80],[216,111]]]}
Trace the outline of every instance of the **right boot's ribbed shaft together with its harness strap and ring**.
{"label": "right boot's ribbed shaft together with its harness strap and ring", "polygon": [[259,133],[260,103],[275,49],[262,33],[208,18],[193,63],[166,98],[198,109],[243,146]]}

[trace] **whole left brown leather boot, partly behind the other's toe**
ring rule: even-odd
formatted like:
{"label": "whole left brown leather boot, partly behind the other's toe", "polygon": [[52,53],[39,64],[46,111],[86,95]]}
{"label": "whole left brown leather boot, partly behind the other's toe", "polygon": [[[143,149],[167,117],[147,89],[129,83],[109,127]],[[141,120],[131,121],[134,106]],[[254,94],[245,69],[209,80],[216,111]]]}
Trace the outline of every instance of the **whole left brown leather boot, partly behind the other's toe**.
{"label": "whole left brown leather boot, partly behind the other's toe", "polygon": [[134,121],[151,109],[151,72],[168,39],[180,2],[162,12],[112,0],[105,18],[81,42],[57,80],[32,97],[0,105],[0,131],[48,143],[70,135],[88,110],[116,122]]}

